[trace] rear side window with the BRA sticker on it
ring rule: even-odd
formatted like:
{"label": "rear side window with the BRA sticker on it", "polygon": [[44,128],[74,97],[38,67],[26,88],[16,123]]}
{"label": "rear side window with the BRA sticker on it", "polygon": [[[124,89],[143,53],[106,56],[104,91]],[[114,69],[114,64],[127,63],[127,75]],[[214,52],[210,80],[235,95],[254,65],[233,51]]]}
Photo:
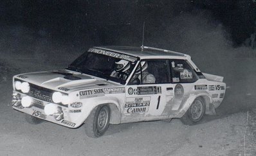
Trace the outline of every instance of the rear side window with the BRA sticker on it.
{"label": "rear side window with the BRA sticker on it", "polygon": [[192,83],[198,79],[185,60],[170,60],[170,72],[172,83]]}

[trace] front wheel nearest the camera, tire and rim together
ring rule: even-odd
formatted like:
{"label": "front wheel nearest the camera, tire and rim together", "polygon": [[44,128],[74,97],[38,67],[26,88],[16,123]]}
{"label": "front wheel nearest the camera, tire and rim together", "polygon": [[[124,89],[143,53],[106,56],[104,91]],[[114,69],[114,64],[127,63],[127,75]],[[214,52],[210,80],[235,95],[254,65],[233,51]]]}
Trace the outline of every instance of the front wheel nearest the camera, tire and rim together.
{"label": "front wheel nearest the camera, tire and rim together", "polygon": [[109,128],[110,108],[108,105],[98,106],[87,117],[84,126],[88,137],[100,137]]}

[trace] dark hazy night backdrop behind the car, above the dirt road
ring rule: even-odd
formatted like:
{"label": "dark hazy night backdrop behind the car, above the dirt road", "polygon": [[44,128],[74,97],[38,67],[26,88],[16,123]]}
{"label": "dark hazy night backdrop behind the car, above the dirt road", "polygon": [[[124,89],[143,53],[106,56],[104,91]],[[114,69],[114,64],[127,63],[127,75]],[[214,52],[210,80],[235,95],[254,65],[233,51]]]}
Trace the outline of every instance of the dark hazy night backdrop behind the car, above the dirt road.
{"label": "dark hazy night backdrop behind the car, above the dirt road", "polygon": [[[192,56],[228,89],[217,117],[255,108],[256,1],[1,1],[0,74],[63,69],[92,46]],[[11,95],[11,94],[10,94]],[[255,97],[255,98],[254,98]]]}

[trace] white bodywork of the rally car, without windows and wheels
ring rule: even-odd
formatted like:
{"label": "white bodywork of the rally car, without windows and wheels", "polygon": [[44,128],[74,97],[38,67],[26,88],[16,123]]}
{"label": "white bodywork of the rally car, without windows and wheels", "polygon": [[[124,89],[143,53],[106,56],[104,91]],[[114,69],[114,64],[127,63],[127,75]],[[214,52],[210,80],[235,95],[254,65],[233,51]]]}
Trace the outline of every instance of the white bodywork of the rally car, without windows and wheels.
{"label": "white bodywork of the rally car, without windows and wheels", "polygon": [[[157,48],[143,47],[142,50],[118,46],[90,48],[87,53],[124,58],[136,64],[122,83],[69,69],[15,75],[13,108],[46,121],[77,128],[98,105],[109,105],[109,123],[120,124],[182,117],[198,97],[205,100],[206,113],[211,106],[217,108],[223,101],[226,90],[223,77],[201,73],[188,55]],[[170,76],[170,83],[129,84],[138,64],[152,59],[164,59],[174,68],[177,64],[171,60],[185,60],[194,71],[186,71],[184,65],[178,64],[181,77]],[[179,82],[181,78],[189,79],[192,73],[197,77],[194,82]],[[28,82],[29,91],[26,91],[26,85],[21,89],[19,82]],[[53,102],[53,92],[61,92],[62,103]],[[46,110],[46,105],[51,107]],[[51,114],[50,109],[57,107],[62,111],[61,119],[53,116],[54,111]]]}

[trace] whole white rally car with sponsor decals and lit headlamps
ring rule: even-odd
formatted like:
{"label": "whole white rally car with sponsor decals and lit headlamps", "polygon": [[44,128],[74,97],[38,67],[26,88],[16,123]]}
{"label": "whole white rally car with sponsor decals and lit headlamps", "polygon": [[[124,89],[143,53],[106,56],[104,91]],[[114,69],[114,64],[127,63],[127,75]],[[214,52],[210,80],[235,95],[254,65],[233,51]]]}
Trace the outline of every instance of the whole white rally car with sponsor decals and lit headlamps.
{"label": "whole white rally car with sponsor decals and lit headlamps", "polygon": [[223,77],[201,73],[190,56],[165,49],[90,48],[66,69],[15,75],[12,107],[32,124],[84,124],[99,137],[109,123],[181,118],[187,125],[212,114],[224,98]]}

